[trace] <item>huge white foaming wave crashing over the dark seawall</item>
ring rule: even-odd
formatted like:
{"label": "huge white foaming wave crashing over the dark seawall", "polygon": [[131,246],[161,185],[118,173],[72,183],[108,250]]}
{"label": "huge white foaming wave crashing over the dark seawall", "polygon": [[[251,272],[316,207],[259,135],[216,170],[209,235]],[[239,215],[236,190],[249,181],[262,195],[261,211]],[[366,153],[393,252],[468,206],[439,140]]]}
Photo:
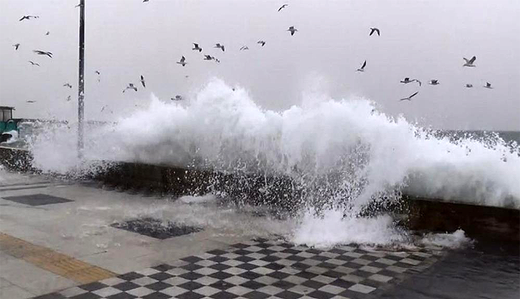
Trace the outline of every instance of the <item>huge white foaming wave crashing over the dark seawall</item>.
{"label": "huge white foaming wave crashing over the dark seawall", "polygon": [[[183,103],[152,96],[143,110],[90,130],[85,157],[284,174],[315,191],[323,187],[325,200],[347,198],[353,206],[405,188],[417,196],[520,208],[518,147],[450,142],[364,99],[303,102],[264,110],[246,90],[212,80]],[[60,127],[36,138],[35,165],[53,172],[77,167],[74,135]]]}

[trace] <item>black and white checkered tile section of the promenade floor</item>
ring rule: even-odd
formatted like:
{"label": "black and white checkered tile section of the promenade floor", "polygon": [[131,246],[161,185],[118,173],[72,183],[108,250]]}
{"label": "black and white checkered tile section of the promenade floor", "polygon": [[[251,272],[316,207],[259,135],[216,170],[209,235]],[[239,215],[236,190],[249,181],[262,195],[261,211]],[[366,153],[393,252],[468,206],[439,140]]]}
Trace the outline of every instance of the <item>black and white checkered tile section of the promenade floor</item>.
{"label": "black and white checkered tile section of the promenade floor", "polygon": [[41,298],[369,298],[436,261],[439,251],[318,250],[256,239]]}

